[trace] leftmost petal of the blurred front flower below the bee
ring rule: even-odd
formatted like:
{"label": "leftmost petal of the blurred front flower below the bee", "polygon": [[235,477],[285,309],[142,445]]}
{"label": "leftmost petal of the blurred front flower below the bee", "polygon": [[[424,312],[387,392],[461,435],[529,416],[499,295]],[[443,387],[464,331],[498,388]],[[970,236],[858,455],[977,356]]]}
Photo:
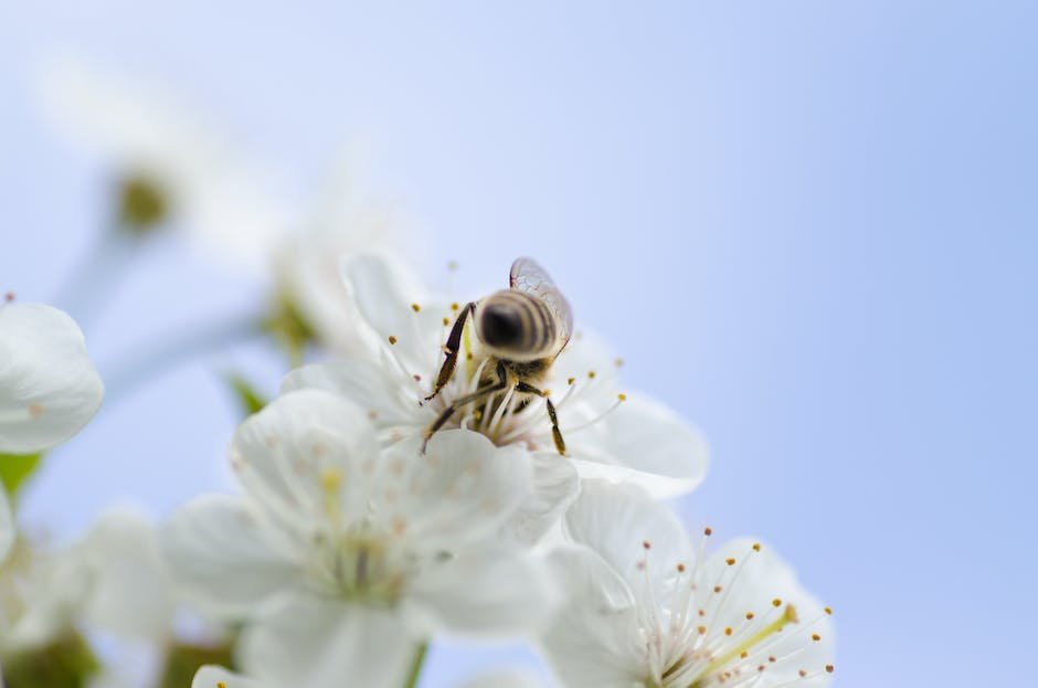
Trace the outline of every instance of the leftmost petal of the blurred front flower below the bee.
{"label": "leftmost petal of the blurred front flower below the bee", "polygon": [[292,560],[265,540],[268,532],[243,499],[209,495],[169,519],[163,553],[186,595],[210,613],[235,618],[301,576]]}

